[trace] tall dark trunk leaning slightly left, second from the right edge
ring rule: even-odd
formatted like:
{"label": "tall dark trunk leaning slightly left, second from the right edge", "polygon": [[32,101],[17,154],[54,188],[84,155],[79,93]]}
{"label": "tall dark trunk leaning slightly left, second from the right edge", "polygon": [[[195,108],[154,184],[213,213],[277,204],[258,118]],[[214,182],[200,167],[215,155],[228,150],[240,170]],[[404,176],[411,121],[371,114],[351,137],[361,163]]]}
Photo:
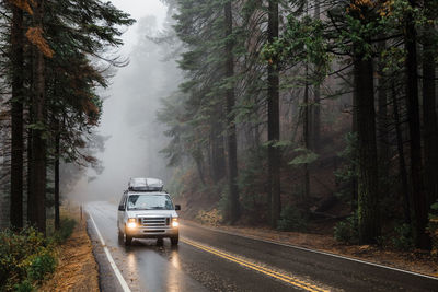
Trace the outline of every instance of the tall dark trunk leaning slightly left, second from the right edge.
{"label": "tall dark trunk leaning slightly left, second from the right edge", "polygon": [[[411,0],[410,4],[414,8],[416,4],[415,0]],[[415,210],[415,243],[418,248],[429,249],[430,237],[426,234],[426,226],[428,223],[428,207],[424,189],[422,167],[416,32],[413,15],[411,12],[406,16],[405,32],[405,48],[407,51],[405,61],[406,101],[407,119],[410,126],[411,177],[413,187],[412,196]]]}

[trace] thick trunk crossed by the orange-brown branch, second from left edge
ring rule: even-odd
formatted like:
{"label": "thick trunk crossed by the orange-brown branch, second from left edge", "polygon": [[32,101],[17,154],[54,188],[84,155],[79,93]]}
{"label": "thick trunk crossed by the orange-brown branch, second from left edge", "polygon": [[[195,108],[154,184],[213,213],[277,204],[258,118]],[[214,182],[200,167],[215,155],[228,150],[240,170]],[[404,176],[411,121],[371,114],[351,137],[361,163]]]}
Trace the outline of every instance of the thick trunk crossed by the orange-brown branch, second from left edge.
{"label": "thick trunk crossed by the orange-brown branch, second from left edge", "polygon": [[[43,27],[44,0],[36,0],[34,7],[34,25]],[[33,47],[33,96],[32,96],[32,162],[31,162],[31,194],[32,212],[31,224],[39,232],[46,233],[46,140],[45,133],[45,74],[44,56],[36,47]]]}

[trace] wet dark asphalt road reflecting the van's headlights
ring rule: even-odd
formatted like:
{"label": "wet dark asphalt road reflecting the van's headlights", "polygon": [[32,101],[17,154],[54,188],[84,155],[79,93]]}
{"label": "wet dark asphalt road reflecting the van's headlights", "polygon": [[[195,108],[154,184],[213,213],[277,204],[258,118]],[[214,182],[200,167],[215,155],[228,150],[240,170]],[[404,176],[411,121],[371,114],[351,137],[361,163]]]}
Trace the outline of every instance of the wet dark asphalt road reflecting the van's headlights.
{"label": "wet dark asphalt road reflecting the van's headlights", "polygon": [[[438,291],[438,280],[182,223],[180,245],[117,236],[116,206],[87,206],[131,291]],[[89,219],[104,292],[124,291]]]}

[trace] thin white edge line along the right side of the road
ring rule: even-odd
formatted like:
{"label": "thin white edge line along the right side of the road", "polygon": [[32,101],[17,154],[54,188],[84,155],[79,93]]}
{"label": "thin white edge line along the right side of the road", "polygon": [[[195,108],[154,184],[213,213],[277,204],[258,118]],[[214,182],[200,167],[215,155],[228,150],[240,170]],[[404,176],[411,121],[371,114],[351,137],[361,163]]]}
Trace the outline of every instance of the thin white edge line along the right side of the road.
{"label": "thin white edge line along the right side of the road", "polygon": [[[189,224],[193,225],[192,222]],[[253,236],[253,235],[242,235],[242,234],[230,232],[230,231],[224,231],[224,230],[214,229],[214,227],[209,227],[209,226],[204,226],[204,225],[200,225],[198,223],[195,223],[195,224],[198,225],[201,229],[216,231],[216,232],[220,232],[220,233],[224,233],[224,234],[229,234],[229,235],[234,235],[234,236],[239,236],[239,237],[243,237],[243,238],[250,238],[250,240],[254,240],[254,241],[258,241],[258,242],[276,244],[276,245],[291,247],[291,248],[296,248],[296,249],[301,249],[301,250],[306,250],[306,252],[310,252],[310,253],[314,253],[314,254],[320,254],[320,255],[342,258],[342,259],[356,261],[356,262],[360,262],[360,264],[366,264],[366,265],[370,265],[370,266],[374,266],[374,267],[379,267],[379,268],[383,268],[383,269],[389,269],[389,270],[400,271],[400,272],[404,272],[404,273],[410,273],[410,275],[413,275],[413,276],[424,277],[424,278],[428,278],[428,279],[431,279],[431,280],[438,280],[437,277],[433,277],[433,276],[428,276],[428,275],[424,275],[424,273],[419,273],[419,272],[402,270],[402,269],[399,269],[399,268],[383,266],[383,265],[371,262],[371,261],[366,261],[366,260],[356,259],[356,258],[351,258],[351,257],[339,256],[339,255],[336,255],[336,254],[321,252],[321,250],[316,250],[316,249],[310,249],[310,248],[301,247],[301,246],[298,246],[298,245],[285,244],[285,243],[280,243],[280,242],[269,241],[269,240],[263,240],[263,238],[260,238],[260,237]]]}

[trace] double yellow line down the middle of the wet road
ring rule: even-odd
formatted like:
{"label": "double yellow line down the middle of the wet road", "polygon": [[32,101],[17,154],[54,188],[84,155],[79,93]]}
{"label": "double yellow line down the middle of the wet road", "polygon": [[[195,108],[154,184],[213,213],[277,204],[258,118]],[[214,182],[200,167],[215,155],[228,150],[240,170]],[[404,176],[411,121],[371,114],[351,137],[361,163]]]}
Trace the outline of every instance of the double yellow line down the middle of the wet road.
{"label": "double yellow line down the middle of the wet road", "polygon": [[273,277],[275,279],[278,279],[278,280],[281,280],[281,281],[287,282],[289,284],[292,284],[295,287],[301,288],[301,289],[303,289],[306,291],[311,291],[311,292],[328,292],[330,291],[330,290],[325,290],[325,289],[322,289],[320,287],[316,287],[314,284],[308,283],[306,281],[299,280],[299,279],[297,279],[295,277],[290,277],[290,276],[287,276],[285,273],[280,273],[280,272],[274,271],[272,269],[262,267],[260,265],[255,265],[255,264],[250,262],[250,261],[247,261],[245,259],[234,257],[234,256],[232,256],[230,254],[220,252],[220,250],[218,250],[216,248],[211,248],[211,247],[201,245],[201,244],[193,242],[191,240],[182,238],[181,241],[183,243],[186,243],[186,244],[189,244],[189,245],[192,245],[194,247],[203,249],[203,250],[205,250],[207,253],[214,254],[214,255],[216,255],[218,257],[226,258],[228,260],[237,262],[237,264],[239,264],[241,266],[244,266],[246,268],[256,270],[256,271],[262,272],[264,275],[270,276],[270,277]]}

